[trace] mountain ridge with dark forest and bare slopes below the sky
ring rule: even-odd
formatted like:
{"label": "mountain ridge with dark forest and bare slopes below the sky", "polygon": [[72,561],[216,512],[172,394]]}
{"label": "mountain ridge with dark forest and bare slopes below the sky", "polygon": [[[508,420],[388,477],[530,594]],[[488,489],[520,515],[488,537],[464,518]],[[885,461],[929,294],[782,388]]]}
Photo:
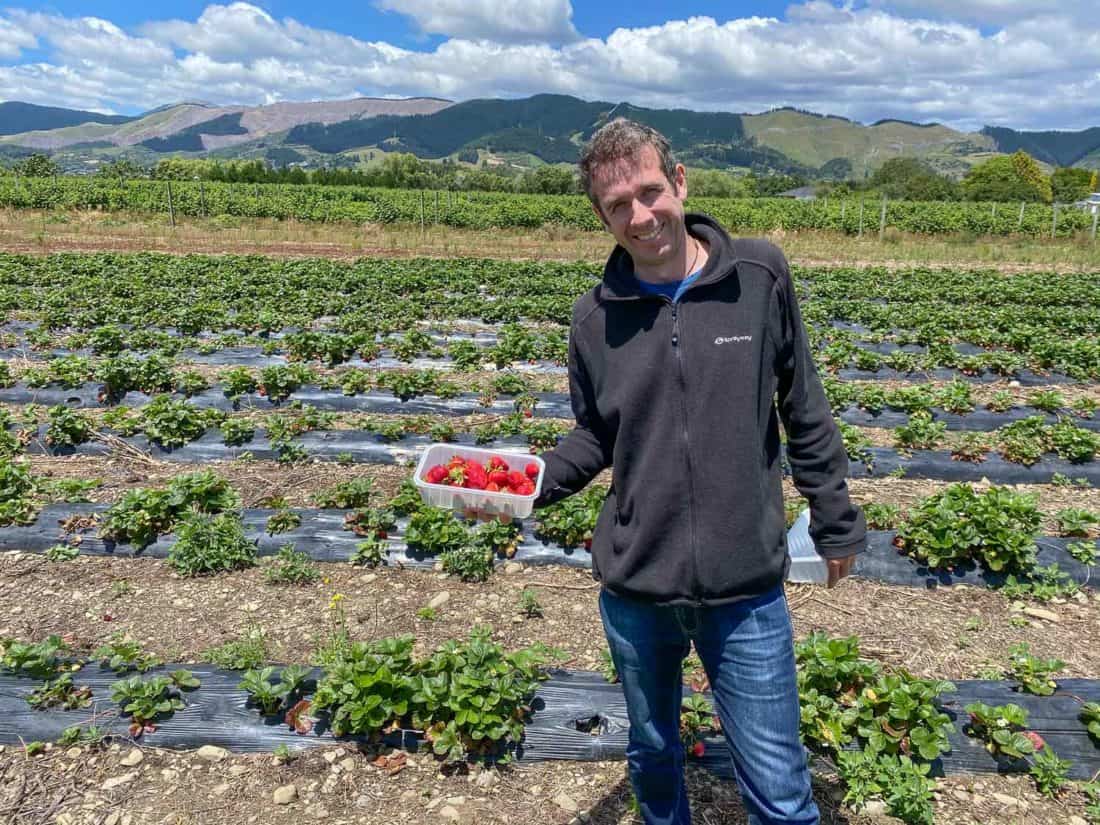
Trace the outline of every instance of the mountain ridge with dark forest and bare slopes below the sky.
{"label": "mountain ridge with dark forest and bare slopes below the sky", "polygon": [[[985,127],[963,132],[898,118],[865,124],[794,107],[759,113],[698,112],[554,94],[461,102],[360,97],[254,107],[184,101],[136,117],[0,103],[0,111],[50,122],[37,110],[48,110],[64,125],[10,132],[19,123],[6,121],[9,133],[0,135],[0,148],[47,151],[69,170],[90,170],[120,156],[155,163],[177,153],[271,163],[289,158],[307,166],[354,165],[395,151],[427,160],[573,163],[580,144],[617,116],[660,130],[684,163],[702,167],[858,178],[891,157],[913,156],[937,172],[961,177],[975,163],[1018,148],[1049,166],[1100,167],[1100,128],[1028,132]],[[97,119],[73,122],[89,114]]]}

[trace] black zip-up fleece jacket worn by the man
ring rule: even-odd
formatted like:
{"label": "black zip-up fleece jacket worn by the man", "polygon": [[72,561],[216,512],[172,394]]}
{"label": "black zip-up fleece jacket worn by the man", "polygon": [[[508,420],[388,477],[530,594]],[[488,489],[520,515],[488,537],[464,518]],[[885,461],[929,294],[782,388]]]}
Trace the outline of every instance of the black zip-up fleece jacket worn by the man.
{"label": "black zip-up fleece jacket worn by the man", "polygon": [[706,216],[686,223],[710,256],[679,304],[641,293],[616,246],[603,280],[573,307],[576,427],[542,455],[537,506],[610,466],[593,576],[628,597],[717,605],[771,590],[790,568],[780,419],[818,552],[864,550],[866,525],[783,254],[735,242]]}

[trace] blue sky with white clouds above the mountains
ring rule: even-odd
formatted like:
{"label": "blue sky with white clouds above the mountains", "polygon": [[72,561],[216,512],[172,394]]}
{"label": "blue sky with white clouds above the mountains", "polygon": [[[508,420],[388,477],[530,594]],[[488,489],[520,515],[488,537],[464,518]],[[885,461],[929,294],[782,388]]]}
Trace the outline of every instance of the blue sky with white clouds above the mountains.
{"label": "blue sky with white clouds above the mountains", "polygon": [[550,91],[963,129],[1100,124],[1084,0],[122,0],[0,6],[0,100],[135,113]]}

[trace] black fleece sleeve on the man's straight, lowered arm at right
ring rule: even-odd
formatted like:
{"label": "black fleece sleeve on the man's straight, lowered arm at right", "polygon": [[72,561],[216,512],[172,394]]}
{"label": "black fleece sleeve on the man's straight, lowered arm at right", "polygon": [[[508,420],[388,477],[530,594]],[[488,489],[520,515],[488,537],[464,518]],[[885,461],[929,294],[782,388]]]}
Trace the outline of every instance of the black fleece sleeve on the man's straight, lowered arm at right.
{"label": "black fleece sleeve on the man's straight, lowered arm at right", "polygon": [[814,366],[787,261],[774,286],[770,332],[779,349],[779,415],[794,486],[810,502],[817,552],[838,559],[867,548],[864,513],[848,496],[848,454]]}

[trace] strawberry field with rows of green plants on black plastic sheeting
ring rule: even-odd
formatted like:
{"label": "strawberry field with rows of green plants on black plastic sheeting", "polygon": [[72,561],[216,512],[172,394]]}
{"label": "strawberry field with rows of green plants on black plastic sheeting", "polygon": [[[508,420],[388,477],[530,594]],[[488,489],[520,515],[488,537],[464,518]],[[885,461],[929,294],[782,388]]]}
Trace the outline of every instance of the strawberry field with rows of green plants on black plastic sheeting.
{"label": "strawberry field with rows of green plants on black plastic sheeting", "polygon": [[[153,184],[3,185],[157,208]],[[407,207],[293,190],[207,185],[202,208]],[[836,590],[789,586],[823,822],[1100,823],[1100,279],[794,275],[871,529]],[[4,821],[637,822],[587,572],[607,477],[510,522],[413,484],[429,443],[568,431],[568,321],[597,277],[0,254]],[[526,495],[537,464],[513,464],[428,481]],[[740,822],[693,659],[693,804]]]}

